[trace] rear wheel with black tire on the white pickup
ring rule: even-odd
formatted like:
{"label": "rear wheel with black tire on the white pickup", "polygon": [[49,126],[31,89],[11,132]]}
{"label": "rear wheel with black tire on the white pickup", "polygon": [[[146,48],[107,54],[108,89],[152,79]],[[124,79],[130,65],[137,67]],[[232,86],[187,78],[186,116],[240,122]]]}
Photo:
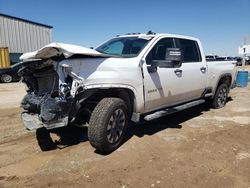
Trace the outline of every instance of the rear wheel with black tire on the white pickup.
{"label": "rear wheel with black tire on the white pickup", "polygon": [[222,108],[226,105],[228,96],[228,86],[227,84],[221,84],[214,95],[212,100],[212,107],[213,108]]}

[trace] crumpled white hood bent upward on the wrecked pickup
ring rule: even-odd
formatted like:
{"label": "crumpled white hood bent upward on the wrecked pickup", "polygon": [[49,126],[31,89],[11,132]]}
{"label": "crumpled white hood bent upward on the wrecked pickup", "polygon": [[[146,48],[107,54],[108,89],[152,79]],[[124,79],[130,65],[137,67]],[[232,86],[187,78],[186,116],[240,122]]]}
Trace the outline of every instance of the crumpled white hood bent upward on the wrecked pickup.
{"label": "crumpled white hood bent upward on the wrecked pickup", "polygon": [[89,55],[95,57],[107,57],[107,55],[102,54],[94,49],[72,44],[54,42],[42,47],[39,50],[23,54],[20,57],[20,60],[24,61],[28,59],[48,59],[60,55],[64,55],[64,57],[67,59],[74,54]]}

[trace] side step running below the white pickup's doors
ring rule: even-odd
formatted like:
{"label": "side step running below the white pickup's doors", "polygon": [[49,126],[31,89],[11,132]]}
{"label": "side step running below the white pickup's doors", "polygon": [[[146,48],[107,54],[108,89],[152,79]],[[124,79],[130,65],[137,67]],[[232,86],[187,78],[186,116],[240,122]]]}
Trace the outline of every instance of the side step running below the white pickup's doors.
{"label": "side step running below the white pickup's doors", "polygon": [[151,121],[153,119],[157,119],[157,118],[169,115],[169,114],[173,114],[175,112],[179,112],[179,111],[185,110],[187,108],[191,108],[193,106],[202,104],[204,102],[205,102],[204,99],[200,99],[200,100],[192,101],[192,102],[189,102],[189,103],[185,103],[185,104],[180,105],[180,106],[175,106],[175,107],[172,107],[172,108],[167,108],[165,110],[160,110],[160,111],[157,111],[157,112],[155,112],[153,114],[146,115],[144,117],[144,120]]}

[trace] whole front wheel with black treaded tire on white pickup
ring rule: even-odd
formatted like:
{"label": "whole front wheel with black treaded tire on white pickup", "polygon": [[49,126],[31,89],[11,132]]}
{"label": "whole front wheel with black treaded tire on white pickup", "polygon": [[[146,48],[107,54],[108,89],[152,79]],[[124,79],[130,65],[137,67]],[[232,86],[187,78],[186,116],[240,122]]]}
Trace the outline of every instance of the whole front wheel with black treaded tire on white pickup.
{"label": "whole front wheel with black treaded tire on white pickup", "polygon": [[122,99],[104,98],[93,110],[88,127],[90,144],[111,153],[123,142],[128,125],[128,109]]}

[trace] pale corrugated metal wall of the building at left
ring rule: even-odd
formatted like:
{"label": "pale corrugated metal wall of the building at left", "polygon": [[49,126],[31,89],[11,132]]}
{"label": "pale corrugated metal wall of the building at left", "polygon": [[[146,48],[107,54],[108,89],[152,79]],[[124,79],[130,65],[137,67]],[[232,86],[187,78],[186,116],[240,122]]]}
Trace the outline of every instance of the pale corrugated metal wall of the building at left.
{"label": "pale corrugated metal wall of the building at left", "polygon": [[51,28],[0,15],[0,47],[10,53],[34,51],[51,42]]}

